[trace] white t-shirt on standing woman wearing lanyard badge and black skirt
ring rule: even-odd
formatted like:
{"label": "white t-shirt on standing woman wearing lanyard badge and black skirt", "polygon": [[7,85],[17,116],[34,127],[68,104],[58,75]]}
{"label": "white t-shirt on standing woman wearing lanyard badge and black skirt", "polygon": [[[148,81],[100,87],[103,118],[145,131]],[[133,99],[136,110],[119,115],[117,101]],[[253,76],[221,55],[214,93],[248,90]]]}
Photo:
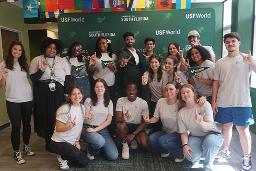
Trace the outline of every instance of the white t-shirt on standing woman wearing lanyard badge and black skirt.
{"label": "white t-shirt on standing woman wearing lanyard badge and black skirt", "polygon": [[[41,59],[45,60],[44,55],[33,58],[30,63],[29,74],[36,73],[41,68]],[[48,63],[52,66],[54,58],[47,57]],[[53,79],[64,86],[66,75],[70,75],[70,71],[65,60],[59,56],[55,56],[55,65],[53,66]],[[49,65],[45,68],[45,71],[39,81],[51,79],[51,70]]]}

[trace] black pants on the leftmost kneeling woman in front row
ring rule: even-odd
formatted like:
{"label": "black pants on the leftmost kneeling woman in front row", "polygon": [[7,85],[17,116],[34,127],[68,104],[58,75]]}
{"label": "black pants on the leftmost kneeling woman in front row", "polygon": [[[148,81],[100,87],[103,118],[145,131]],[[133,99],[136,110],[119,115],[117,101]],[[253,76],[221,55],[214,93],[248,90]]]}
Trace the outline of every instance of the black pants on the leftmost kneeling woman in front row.
{"label": "black pants on the leftmost kneeling woman in front row", "polygon": [[54,153],[61,155],[63,160],[75,162],[78,166],[87,166],[88,158],[82,148],[80,150],[67,142],[55,142],[51,140],[51,149]]}

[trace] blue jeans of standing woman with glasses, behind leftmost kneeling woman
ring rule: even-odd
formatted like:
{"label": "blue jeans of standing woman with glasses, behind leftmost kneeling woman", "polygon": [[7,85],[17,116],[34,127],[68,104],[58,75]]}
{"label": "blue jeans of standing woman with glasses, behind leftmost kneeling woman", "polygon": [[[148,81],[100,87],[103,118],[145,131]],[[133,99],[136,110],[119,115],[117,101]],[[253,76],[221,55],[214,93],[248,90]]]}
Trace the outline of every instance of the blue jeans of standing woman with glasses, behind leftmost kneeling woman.
{"label": "blue jeans of standing woman with glasses, behind leftmost kneeling woman", "polygon": [[69,83],[70,86],[72,85],[78,85],[81,87],[84,97],[83,97],[83,103],[84,101],[90,97],[91,95],[91,87],[90,87],[90,81],[88,76],[84,77],[78,77],[78,78],[72,78]]}

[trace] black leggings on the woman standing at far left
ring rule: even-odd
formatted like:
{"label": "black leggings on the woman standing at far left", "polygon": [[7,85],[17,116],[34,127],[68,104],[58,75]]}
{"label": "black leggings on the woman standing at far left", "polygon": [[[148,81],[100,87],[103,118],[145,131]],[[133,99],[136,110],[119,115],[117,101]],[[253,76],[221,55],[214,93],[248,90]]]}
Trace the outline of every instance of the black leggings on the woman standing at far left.
{"label": "black leggings on the woman standing at far left", "polygon": [[[19,150],[21,120],[23,125],[22,138],[25,144],[29,143],[31,133],[32,101],[14,103],[6,101],[6,109],[10,119],[11,133],[10,140],[14,151]],[[21,115],[20,115],[21,114]]]}

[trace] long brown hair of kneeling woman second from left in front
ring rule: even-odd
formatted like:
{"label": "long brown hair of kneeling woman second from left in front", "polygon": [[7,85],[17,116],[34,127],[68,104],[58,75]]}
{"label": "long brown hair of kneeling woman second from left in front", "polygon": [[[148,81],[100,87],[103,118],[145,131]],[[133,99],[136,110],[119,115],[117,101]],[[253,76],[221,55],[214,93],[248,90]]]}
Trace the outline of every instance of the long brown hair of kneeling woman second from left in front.
{"label": "long brown hair of kneeling woman second from left in front", "polygon": [[102,78],[98,78],[98,79],[96,79],[94,81],[94,83],[92,83],[92,90],[91,90],[91,95],[90,95],[90,98],[91,98],[90,104],[92,106],[97,106],[97,104],[98,104],[98,96],[97,96],[97,94],[96,94],[96,92],[94,90],[97,82],[102,82],[103,85],[104,85],[104,88],[105,88],[105,92],[104,92],[104,95],[103,95],[103,97],[104,97],[104,105],[105,105],[105,107],[108,107],[109,106],[109,102],[110,102],[108,84]]}

